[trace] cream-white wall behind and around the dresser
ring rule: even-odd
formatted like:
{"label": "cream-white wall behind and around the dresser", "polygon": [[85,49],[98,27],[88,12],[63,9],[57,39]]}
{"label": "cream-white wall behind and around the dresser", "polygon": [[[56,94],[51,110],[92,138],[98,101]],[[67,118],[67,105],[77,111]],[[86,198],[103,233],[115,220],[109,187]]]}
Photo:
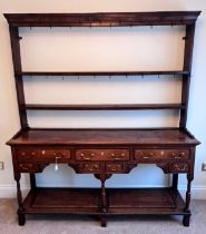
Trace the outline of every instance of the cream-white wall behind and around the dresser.
{"label": "cream-white wall behind and around the dresser", "polygon": [[[20,3],[21,2],[21,3]],[[4,143],[19,129],[19,117],[16,100],[14,80],[11,61],[8,25],[3,12],[104,12],[104,11],[156,11],[156,10],[202,10],[197,22],[193,62],[193,79],[188,110],[188,128],[202,142],[197,147],[194,197],[206,198],[206,173],[200,164],[206,155],[205,119],[203,108],[206,80],[206,23],[204,0],[127,0],[127,1],[12,1],[0,2],[0,160],[4,162],[4,170],[0,170],[0,196],[14,195],[12,163],[10,148]],[[180,69],[183,58],[183,28],[149,27],[145,28],[96,28],[96,29],[30,29],[21,30],[23,40],[22,60],[24,70],[146,70]],[[52,33],[52,38],[50,39]],[[150,37],[150,35],[153,37]],[[126,45],[127,42],[127,45]],[[63,47],[62,45],[68,45]],[[35,47],[33,47],[35,45]],[[126,46],[125,46],[126,45]],[[139,46],[140,45],[140,46]],[[48,53],[49,51],[49,53]],[[59,51],[59,53],[57,53]],[[109,51],[109,53],[108,53]],[[137,52],[138,51],[138,52]],[[82,56],[84,52],[84,56]],[[167,58],[166,55],[170,55]],[[55,56],[53,56],[55,55]],[[121,56],[124,55],[124,56]],[[108,59],[109,56],[109,59]],[[148,59],[149,58],[149,59]],[[158,58],[158,59],[157,59]],[[45,62],[47,60],[47,62]],[[148,66],[149,65],[149,66]],[[168,78],[96,78],[77,77],[58,80],[52,78],[26,78],[26,98],[28,103],[175,103],[180,99],[180,80]],[[50,84],[50,85],[48,85]],[[47,92],[45,88],[47,87]],[[53,91],[56,89],[56,91]],[[149,90],[149,91],[148,91]],[[157,91],[158,90],[158,91]],[[67,95],[69,92],[69,95]],[[38,95],[37,95],[38,94]],[[105,95],[106,94],[106,95]],[[193,111],[195,110],[195,111]],[[29,113],[32,126],[67,127],[138,127],[138,126],[177,126],[176,111],[68,111]],[[59,124],[60,123],[60,124]],[[147,177],[145,176],[147,173]],[[155,175],[155,176],[154,176]],[[164,186],[168,176],[155,166],[145,165],[135,168],[129,175],[116,175],[108,181],[108,186]],[[53,166],[38,176],[38,184],[45,186],[98,186],[99,182],[90,175],[75,175],[72,169],[61,166],[58,173]],[[28,177],[22,176],[23,187],[28,187]],[[180,178],[180,188],[185,188],[185,176]]]}

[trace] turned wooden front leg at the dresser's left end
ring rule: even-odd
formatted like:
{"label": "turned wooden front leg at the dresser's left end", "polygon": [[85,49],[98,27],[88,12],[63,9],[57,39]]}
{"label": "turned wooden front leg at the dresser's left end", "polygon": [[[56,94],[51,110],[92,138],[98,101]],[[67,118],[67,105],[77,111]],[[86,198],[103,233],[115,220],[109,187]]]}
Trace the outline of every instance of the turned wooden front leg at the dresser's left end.
{"label": "turned wooden front leg at the dresser's left end", "polygon": [[18,199],[18,205],[19,205],[17,214],[18,214],[19,225],[22,226],[26,223],[26,217],[24,217],[24,214],[23,214],[23,202],[22,202],[20,178],[21,178],[21,174],[17,173],[14,175],[14,179],[17,182],[17,199]]}

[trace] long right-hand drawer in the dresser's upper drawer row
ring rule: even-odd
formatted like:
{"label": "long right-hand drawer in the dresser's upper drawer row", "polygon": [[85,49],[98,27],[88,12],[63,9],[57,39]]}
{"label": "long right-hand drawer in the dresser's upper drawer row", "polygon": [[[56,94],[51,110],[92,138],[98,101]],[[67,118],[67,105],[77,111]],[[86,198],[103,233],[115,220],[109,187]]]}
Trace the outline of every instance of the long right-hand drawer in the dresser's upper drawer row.
{"label": "long right-hand drawer in the dresser's upper drawer row", "polygon": [[160,160],[185,162],[189,159],[188,149],[137,149],[135,159],[139,163],[155,163]]}

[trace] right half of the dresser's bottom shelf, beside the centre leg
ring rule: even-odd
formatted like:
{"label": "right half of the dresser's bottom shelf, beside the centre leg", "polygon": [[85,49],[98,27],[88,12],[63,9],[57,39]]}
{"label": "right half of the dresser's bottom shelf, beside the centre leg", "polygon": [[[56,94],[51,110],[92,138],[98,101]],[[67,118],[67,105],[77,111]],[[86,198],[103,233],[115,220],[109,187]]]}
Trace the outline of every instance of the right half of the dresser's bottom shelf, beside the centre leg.
{"label": "right half of the dresser's bottom shelf, beside the centre leg", "polygon": [[[110,214],[183,214],[185,202],[178,191],[165,188],[109,188]],[[131,199],[128,199],[130,197]],[[157,213],[156,208],[159,209]]]}

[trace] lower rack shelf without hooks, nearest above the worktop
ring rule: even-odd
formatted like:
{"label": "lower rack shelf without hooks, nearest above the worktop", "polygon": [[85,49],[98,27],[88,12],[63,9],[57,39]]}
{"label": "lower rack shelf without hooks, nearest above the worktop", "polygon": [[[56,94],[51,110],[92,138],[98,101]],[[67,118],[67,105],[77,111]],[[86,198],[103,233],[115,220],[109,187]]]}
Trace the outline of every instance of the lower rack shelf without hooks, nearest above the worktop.
{"label": "lower rack shelf without hooks, nearest above the worktop", "polygon": [[21,109],[31,110],[146,110],[146,109],[185,109],[182,104],[90,104],[90,105],[58,105],[27,104]]}

